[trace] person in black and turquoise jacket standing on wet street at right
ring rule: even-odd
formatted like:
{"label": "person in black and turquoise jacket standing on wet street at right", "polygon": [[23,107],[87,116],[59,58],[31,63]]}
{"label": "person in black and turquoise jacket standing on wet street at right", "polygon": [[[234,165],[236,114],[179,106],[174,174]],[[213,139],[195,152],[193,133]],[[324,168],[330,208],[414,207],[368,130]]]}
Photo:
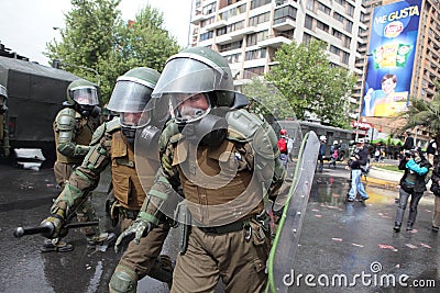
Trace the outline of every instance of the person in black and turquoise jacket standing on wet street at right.
{"label": "person in black and turquoise jacket standing on wet street at right", "polygon": [[404,221],[404,214],[408,204],[409,196],[409,215],[406,230],[413,230],[414,223],[417,217],[417,206],[426,188],[426,176],[431,165],[425,158],[420,148],[406,151],[400,159],[398,169],[405,170],[400,179],[399,200],[394,223],[394,232],[400,232],[400,226]]}

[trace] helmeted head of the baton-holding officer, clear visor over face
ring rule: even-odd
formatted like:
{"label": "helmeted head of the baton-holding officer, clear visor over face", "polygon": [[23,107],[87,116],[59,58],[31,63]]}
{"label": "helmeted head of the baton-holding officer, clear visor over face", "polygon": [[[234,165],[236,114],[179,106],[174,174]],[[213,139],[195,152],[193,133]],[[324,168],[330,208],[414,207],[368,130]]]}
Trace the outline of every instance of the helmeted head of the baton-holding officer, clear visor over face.
{"label": "helmeted head of the baton-holding officer, clear visor over face", "polygon": [[127,71],[117,80],[107,109],[119,113],[122,134],[129,143],[134,142],[140,127],[152,121],[153,111],[147,111],[145,108],[160,76],[154,69],[138,67]]}

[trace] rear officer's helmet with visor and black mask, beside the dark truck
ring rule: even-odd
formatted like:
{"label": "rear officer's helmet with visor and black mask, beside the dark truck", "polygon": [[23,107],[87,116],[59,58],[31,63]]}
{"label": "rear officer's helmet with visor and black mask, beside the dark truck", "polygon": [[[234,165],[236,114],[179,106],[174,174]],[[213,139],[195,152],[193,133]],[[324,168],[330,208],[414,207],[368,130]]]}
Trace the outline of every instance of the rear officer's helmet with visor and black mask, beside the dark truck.
{"label": "rear officer's helmet with visor and black mask, beside the dark truck", "polygon": [[97,84],[85,79],[77,79],[67,87],[67,101],[65,105],[73,106],[82,116],[97,117],[100,114],[98,104]]}

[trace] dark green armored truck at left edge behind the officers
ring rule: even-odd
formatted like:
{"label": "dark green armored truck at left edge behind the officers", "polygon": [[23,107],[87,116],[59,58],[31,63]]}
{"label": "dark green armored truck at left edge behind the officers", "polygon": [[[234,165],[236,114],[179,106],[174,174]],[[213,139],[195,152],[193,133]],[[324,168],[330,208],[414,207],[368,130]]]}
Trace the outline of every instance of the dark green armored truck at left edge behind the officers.
{"label": "dark green armored truck at left edge behind the officers", "polygon": [[52,123],[79,77],[28,60],[0,56],[0,83],[8,89],[8,126],[14,148],[40,148],[46,165],[55,160]]}

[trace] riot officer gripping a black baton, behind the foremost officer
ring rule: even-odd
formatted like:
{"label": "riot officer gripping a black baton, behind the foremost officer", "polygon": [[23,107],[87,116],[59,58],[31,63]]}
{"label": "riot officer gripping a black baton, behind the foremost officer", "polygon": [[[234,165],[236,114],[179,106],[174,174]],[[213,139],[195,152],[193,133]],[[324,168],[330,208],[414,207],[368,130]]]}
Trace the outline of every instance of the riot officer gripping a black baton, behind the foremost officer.
{"label": "riot officer gripping a black baton, behind the foremost officer", "polygon": [[[156,110],[154,114],[152,111],[143,111],[158,76],[156,70],[138,67],[118,78],[108,109],[118,112],[119,116],[103,123],[94,133],[90,149],[82,164],[75,169],[52,206],[54,216],[43,222],[44,225],[53,225],[53,237],[56,237],[56,233],[62,229],[62,219],[68,217],[69,211],[74,211],[77,203],[87,199],[89,191],[97,187],[100,173],[109,165],[114,201],[108,207],[113,225],[119,222],[121,230],[124,230],[136,218],[145,199],[144,189],[151,187],[154,178],[141,182],[134,158],[134,138],[138,132],[154,133],[155,128],[148,125],[153,115],[155,117],[167,115],[166,111],[161,113]],[[155,144],[157,145],[157,142]],[[157,156],[157,147],[155,149]],[[157,171],[158,156],[156,160],[141,161],[142,168],[150,168],[152,172]],[[134,288],[135,292],[136,281],[146,274],[170,282],[169,258],[158,256],[168,230],[169,226],[166,224],[160,225],[143,238],[139,246],[129,245],[111,279],[111,292],[129,292],[129,288],[130,290]]]}

